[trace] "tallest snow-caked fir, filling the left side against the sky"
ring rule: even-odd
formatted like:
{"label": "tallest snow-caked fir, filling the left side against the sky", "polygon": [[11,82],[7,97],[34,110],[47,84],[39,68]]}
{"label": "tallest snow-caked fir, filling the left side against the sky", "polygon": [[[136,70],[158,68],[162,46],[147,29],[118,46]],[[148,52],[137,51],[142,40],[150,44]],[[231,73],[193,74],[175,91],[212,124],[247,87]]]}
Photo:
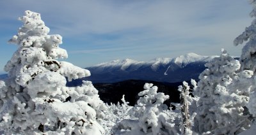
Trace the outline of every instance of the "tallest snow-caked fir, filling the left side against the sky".
{"label": "tallest snow-caked fir, filling the left side against the sky", "polygon": [[18,50],[0,82],[0,129],[4,134],[104,134],[99,124],[105,104],[92,82],[66,87],[90,71],[57,59],[67,58],[62,37],[48,35],[40,14],[25,11],[24,23],[10,43]]}

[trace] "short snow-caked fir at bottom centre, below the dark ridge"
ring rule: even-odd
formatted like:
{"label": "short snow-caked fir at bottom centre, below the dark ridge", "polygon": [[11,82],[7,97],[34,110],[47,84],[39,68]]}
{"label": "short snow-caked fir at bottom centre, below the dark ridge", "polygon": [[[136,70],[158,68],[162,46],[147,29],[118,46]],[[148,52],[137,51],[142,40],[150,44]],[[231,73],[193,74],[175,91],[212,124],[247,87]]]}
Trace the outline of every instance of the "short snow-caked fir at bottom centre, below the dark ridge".
{"label": "short snow-caked fir at bottom centre, below the dark ridge", "polygon": [[169,96],[157,93],[157,87],[152,83],[145,83],[144,89],[138,94],[140,99],[131,110],[136,119],[119,122],[113,128],[114,134],[180,134],[179,125],[175,124],[180,114],[173,112],[168,115],[168,106],[163,104]]}

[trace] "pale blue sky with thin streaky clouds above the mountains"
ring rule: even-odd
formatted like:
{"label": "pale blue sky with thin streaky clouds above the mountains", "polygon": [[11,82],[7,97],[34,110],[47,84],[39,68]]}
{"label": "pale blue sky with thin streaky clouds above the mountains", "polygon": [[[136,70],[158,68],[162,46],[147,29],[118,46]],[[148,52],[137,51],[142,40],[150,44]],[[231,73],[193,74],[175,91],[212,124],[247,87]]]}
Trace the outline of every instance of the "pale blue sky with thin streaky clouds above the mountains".
{"label": "pale blue sky with thin streaky clouds above the mountains", "polygon": [[0,1],[0,73],[17,46],[7,41],[25,10],[41,14],[50,34],[63,36],[66,61],[85,68],[115,59],[152,60],[189,52],[239,56],[233,40],[250,25],[246,0]]}

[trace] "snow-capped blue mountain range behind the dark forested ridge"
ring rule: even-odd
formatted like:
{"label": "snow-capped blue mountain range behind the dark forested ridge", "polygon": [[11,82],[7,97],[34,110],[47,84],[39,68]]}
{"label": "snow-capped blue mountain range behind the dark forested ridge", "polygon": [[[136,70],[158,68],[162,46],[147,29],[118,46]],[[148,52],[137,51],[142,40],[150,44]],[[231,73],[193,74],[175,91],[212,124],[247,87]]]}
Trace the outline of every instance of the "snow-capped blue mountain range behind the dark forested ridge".
{"label": "snow-capped blue mountain range behind the dark forested ridge", "polygon": [[159,58],[149,62],[131,59],[104,62],[86,69],[92,76],[84,78],[93,83],[114,83],[124,80],[150,80],[156,82],[182,82],[198,80],[206,62],[217,56],[201,56],[188,53],[175,58]]}

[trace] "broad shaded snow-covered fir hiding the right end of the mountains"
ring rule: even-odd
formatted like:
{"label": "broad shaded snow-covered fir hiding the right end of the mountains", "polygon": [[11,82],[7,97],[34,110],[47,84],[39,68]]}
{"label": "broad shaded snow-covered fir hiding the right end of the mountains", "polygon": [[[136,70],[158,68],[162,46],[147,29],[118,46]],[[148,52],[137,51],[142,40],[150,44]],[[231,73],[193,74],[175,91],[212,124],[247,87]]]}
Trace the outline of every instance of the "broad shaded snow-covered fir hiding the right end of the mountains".
{"label": "broad shaded snow-covered fir hiding the right end of the mountains", "polygon": [[[220,57],[205,64],[199,78],[195,130],[202,134],[238,134],[250,127],[246,109],[253,72],[239,71],[240,63],[222,50]],[[252,79],[251,79],[252,80]]]}

